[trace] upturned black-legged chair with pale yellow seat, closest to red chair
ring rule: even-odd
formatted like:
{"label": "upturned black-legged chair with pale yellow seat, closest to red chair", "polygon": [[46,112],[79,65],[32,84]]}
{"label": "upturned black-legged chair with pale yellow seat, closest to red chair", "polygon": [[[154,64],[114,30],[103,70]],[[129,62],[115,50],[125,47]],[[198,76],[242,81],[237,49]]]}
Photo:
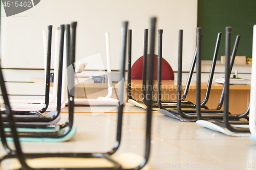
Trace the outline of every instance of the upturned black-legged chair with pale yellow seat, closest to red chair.
{"label": "upturned black-legged chair with pale yellow seat, closest to red chair", "polygon": [[[177,101],[161,101],[161,99],[159,99],[159,98],[161,98],[161,81],[162,81],[162,78],[161,78],[161,75],[162,75],[162,34],[163,34],[163,30],[159,30],[159,41],[158,41],[158,43],[159,43],[159,47],[158,47],[158,50],[159,50],[159,52],[158,52],[158,85],[157,85],[158,90],[157,91],[158,91],[158,101],[160,101],[160,103],[158,101],[153,101],[153,110],[158,110],[162,114],[165,114],[167,116],[174,117],[174,118],[177,118],[177,119],[179,119],[181,121],[185,121],[186,122],[187,119],[183,119],[180,116],[176,116],[177,114],[173,115],[172,113],[169,113],[170,110],[173,110],[173,109],[177,108],[178,100]],[[145,35],[146,35],[146,33],[145,33]],[[201,36],[201,38],[202,38],[202,36]],[[129,39],[131,39],[131,35],[129,36]],[[206,90],[206,94],[205,94],[205,100],[200,104],[200,106],[202,108],[206,109],[206,110],[208,109],[208,107],[206,106],[206,103],[208,102],[208,99],[209,99],[211,84],[212,84],[212,80],[213,80],[213,77],[214,77],[214,70],[215,70],[216,61],[217,61],[217,56],[218,56],[218,51],[219,51],[219,46],[220,46],[220,40],[221,40],[221,33],[218,33],[216,47],[215,47],[215,52],[214,52],[214,58],[213,58],[213,61],[212,61],[211,70],[210,70],[210,76],[209,76],[209,80],[208,80],[208,84],[207,84],[207,90]],[[147,53],[147,51],[145,50],[146,49],[146,47],[145,47],[146,43],[145,42],[144,42],[144,59],[146,60],[145,54]],[[129,45],[131,46],[131,42],[129,43]],[[180,49],[182,49],[181,46],[180,46]],[[194,68],[195,68],[195,64],[196,64],[196,58],[197,58],[196,56],[197,56],[197,50],[195,52],[195,55],[194,55],[194,58],[193,58],[193,62],[192,62],[191,67],[190,67],[190,71],[189,71],[189,75],[188,75],[188,78],[187,78],[184,94],[183,94],[182,99],[181,99],[181,107],[182,108],[187,108],[187,109],[195,109],[196,108],[196,105],[193,104],[192,102],[185,101],[185,99],[187,97],[187,93],[188,93],[188,88],[189,88],[189,85],[190,85],[190,82],[191,82],[191,78],[192,78],[192,75],[193,75],[193,71],[194,71]],[[129,64],[128,64],[128,76],[127,76],[127,79],[128,79],[127,80],[128,81],[127,93],[128,93],[129,99],[130,99],[128,102],[131,103],[131,104],[134,104],[135,106],[138,106],[138,107],[141,107],[143,109],[146,109],[147,108],[147,104],[145,103],[144,100],[142,100],[142,101],[138,101],[137,100],[136,101],[136,100],[133,99],[133,97],[131,95],[131,71],[130,71],[130,69],[131,69],[131,55],[129,55],[128,62],[129,62]],[[146,61],[143,64],[143,68],[145,67],[144,66],[145,63],[146,63]],[[146,70],[146,68],[145,68],[145,70]],[[179,76],[181,76],[181,74],[179,74],[179,72],[181,72],[181,71],[182,70],[178,71],[178,79],[179,79]],[[145,71],[143,69],[143,89],[142,89],[143,96],[145,96],[145,91],[144,91],[144,87],[145,87],[144,79],[145,78],[146,78],[146,75],[145,75]],[[181,81],[181,78],[179,80]],[[178,89],[179,89],[180,85],[178,84]],[[159,108],[160,108],[160,110],[159,110]],[[195,122],[195,120],[193,120],[193,122]]]}

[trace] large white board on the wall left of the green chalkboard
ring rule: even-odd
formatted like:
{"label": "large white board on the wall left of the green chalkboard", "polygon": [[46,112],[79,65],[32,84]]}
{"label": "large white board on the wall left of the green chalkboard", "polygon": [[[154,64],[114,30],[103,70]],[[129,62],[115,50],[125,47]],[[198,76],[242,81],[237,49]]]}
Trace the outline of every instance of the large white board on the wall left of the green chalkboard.
{"label": "large white board on the wall left of the green chalkboard", "polygon": [[[144,29],[156,16],[163,29],[163,58],[174,70],[178,63],[178,30],[183,29],[183,70],[188,71],[196,47],[197,0],[44,0],[35,7],[6,17],[1,10],[3,68],[44,68],[42,30],[77,21],[76,60],[100,54],[103,67],[92,61],[86,69],[106,69],[105,32],[110,32],[111,65],[120,69],[121,23],[133,30],[132,62],[143,55]],[[158,38],[156,37],[156,40]],[[157,42],[156,42],[157,44]],[[155,52],[157,54],[157,45]]]}

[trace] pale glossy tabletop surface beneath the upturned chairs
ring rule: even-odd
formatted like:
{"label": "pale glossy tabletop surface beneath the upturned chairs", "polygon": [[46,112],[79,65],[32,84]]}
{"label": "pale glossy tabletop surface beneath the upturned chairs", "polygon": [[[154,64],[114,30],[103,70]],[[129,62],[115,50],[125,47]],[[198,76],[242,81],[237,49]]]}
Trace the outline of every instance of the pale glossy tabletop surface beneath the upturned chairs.
{"label": "pale glossy tabletop surface beneath the upturned chairs", "polygon": [[[23,142],[24,152],[107,152],[116,138],[117,109],[99,114],[108,107],[76,107],[77,132],[70,141],[61,143]],[[92,114],[92,110],[98,112]],[[62,119],[67,118],[67,108]],[[95,113],[95,112],[94,112]],[[126,104],[122,141],[115,154],[132,152],[144,155],[145,110]],[[63,120],[65,121],[65,120]],[[10,142],[12,144],[12,142]],[[229,137],[196,123],[178,120],[153,112],[150,160],[153,169],[255,169],[256,143],[248,137]],[[5,151],[1,145],[0,156]],[[13,160],[2,163],[10,169]]]}

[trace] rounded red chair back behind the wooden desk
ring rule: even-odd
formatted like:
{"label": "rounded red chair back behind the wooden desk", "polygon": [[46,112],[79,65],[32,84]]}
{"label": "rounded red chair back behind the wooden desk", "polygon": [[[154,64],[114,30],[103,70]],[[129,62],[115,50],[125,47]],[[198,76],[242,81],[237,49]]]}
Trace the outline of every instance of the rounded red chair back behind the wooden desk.
{"label": "rounded red chair back behind the wooden desk", "polygon": [[[149,55],[147,55],[147,58]],[[148,61],[148,60],[147,60]],[[158,56],[154,55],[154,80],[157,80],[157,64],[158,64]],[[140,57],[132,66],[132,80],[142,80],[143,73],[143,56]],[[174,80],[174,71],[169,63],[162,58],[162,80]]]}

